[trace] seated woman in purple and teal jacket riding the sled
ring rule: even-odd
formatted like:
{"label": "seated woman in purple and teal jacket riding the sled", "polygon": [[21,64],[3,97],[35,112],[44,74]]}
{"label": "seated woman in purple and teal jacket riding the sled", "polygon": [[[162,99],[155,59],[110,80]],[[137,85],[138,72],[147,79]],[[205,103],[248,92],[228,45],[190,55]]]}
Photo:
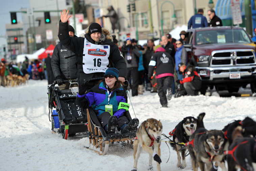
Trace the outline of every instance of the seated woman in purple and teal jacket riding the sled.
{"label": "seated woman in purple and teal jacket riding the sled", "polygon": [[129,109],[129,104],[126,103],[126,92],[118,76],[118,69],[108,68],[104,74],[105,79],[100,84],[89,89],[85,94],[78,93],[77,95],[82,108],[93,108],[108,134],[115,133],[116,126],[122,134],[134,131],[139,123],[137,118],[129,122],[124,115]]}

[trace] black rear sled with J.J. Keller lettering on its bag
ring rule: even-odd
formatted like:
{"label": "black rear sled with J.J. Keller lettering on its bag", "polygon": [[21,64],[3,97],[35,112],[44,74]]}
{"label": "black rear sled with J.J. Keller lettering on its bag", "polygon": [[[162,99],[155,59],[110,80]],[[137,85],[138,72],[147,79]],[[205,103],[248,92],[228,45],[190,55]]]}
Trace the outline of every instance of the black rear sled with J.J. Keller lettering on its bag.
{"label": "black rear sled with J.J. Keller lettering on its bag", "polygon": [[48,86],[49,120],[52,122],[52,132],[61,133],[64,139],[76,133],[88,132],[86,113],[76,104],[78,83],[64,81],[64,83],[68,82],[69,89],[60,90],[55,86],[56,82]]}

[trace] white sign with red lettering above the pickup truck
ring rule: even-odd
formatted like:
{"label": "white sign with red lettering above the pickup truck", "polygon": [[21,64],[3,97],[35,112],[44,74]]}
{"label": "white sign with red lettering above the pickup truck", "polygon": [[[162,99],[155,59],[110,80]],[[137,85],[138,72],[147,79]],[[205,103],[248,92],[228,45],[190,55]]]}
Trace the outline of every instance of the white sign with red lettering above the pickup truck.
{"label": "white sign with red lettering above the pickup truck", "polygon": [[230,2],[231,2],[233,24],[234,25],[242,24],[240,1],[239,0],[231,0]]}

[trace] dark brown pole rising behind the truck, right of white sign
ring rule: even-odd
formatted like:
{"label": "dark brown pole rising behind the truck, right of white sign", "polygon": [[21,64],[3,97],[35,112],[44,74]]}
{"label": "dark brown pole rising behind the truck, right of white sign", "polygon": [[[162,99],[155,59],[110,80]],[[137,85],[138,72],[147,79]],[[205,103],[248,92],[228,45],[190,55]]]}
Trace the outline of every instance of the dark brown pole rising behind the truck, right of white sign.
{"label": "dark brown pole rising behind the truck, right of white sign", "polygon": [[246,31],[252,36],[252,5],[251,0],[245,0],[245,26]]}

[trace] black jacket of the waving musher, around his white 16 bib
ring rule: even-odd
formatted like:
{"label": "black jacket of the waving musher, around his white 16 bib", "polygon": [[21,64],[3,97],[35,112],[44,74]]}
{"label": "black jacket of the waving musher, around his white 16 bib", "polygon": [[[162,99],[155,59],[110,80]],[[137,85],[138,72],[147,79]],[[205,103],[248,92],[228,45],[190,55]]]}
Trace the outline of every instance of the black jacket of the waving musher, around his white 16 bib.
{"label": "black jacket of the waving musher, around his white 16 bib", "polygon": [[[68,33],[68,22],[62,23],[59,22],[59,33],[58,33],[59,40],[61,44],[65,45],[68,49],[73,51],[77,54],[77,69],[78,69],[78,84],[79,86],[88,80],[92,80],[93,78],[101,78],[103,77],[104,73],[92,73],[92,74],[85,74],[83,72],[82,67],[82,56],[83,48],[84,48],[84,38],[83,37],[70,37]],[[126,77],[127,75],[127,67],[124,61],[123,55],[120,52],[117,45],[112,43],[111,39],[106,39],[106,35],[102,32],[101,38],[99,42],[95,42],[91,36],[86,33],[85,38],[93,43],[93,44],[100,44],[100,45],[109,45],[110,46],[110,55],[108,57],[110,66],[115,67],[119,70],[119,77]]]}

